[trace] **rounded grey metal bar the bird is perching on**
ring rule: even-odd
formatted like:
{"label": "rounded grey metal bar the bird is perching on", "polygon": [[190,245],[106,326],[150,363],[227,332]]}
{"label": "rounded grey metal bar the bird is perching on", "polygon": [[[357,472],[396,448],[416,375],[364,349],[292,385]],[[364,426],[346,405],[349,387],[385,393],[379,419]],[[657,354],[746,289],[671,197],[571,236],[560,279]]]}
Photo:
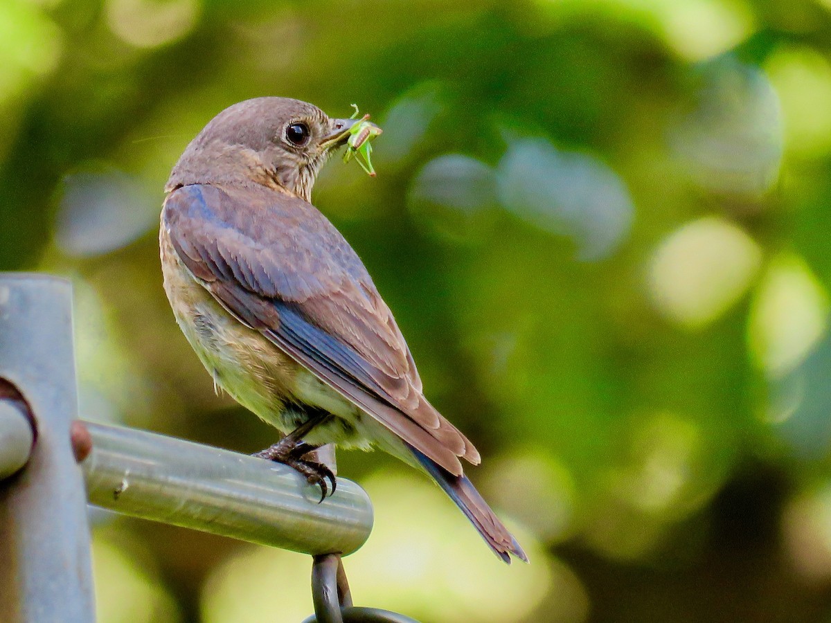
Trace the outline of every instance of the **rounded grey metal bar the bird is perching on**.
{"label": "rounded grey metal bar the bird is perching on", "polygon": [[273,547],[349,554],[372,529],[366,493],[345,478],[322,503],[293,468],[136,429],[86,423],[91,503]]}

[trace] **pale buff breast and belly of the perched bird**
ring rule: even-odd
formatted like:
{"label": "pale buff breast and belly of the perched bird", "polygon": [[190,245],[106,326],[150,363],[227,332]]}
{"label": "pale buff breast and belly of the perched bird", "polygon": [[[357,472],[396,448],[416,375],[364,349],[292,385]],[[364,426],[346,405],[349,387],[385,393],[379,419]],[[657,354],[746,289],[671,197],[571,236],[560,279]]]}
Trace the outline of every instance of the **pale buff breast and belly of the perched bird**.
{"label": "pale buff breast and belly of the perched bird", "polygon": [[231,316],[184,267],[164,224],[160,228],[159,246],[170,307],[216,385],[284,433],[295,429],[306,418],[297,410],[287,409],[287,403],[315,405],[337,415],[338,420],[307,437],[310,444],[368,446],[353,425],[363,419],[356,406],[293,361],[259,331]]}

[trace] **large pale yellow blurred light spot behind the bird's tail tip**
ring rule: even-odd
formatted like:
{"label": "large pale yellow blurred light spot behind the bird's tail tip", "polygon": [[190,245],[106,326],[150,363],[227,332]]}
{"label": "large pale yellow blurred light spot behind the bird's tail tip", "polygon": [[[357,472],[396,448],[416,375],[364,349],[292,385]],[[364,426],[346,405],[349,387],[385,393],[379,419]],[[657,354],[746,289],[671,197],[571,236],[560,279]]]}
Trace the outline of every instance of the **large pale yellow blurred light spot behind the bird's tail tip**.
{"label": "large pale yellow blurred light spot behind the bird's tail tip", "polygon": [[364,484],[376,524],[351,573],[369,602],[389,610],[400,603],[399,610],[425,621],[507,623],[534,611],[551,586],[545,554],[529,533],[514,530],[538,563],[508,567],[426,478],[376,473]]}

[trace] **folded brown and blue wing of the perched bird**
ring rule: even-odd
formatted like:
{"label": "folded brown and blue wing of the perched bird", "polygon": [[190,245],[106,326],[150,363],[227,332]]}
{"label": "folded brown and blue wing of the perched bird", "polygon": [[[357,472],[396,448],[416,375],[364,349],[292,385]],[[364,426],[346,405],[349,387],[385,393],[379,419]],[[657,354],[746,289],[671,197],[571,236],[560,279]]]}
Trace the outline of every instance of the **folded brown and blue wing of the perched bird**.
{"label": "folded brown and blue wing of the perched bird", "polygon": [[268,189],[194,184],[165,201],[188,270],[240,321],[450,473],[473,444],[425,399],[366,268],[311,204]]}

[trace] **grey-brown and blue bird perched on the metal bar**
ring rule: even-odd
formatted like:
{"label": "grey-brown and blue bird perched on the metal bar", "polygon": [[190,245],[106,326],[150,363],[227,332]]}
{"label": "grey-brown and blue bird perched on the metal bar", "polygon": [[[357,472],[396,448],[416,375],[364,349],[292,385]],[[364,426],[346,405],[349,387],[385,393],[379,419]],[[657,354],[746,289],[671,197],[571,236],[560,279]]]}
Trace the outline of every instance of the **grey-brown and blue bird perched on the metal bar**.
{"label": "grey-brown and blue bird perched on the metal bar", "polygon": [[528,557],[465,475],[465,434],[425,398],[404,336],[361,259],[312,205],[322,165],[358,120],[258,97],[221,111],[170,173],[160,223],[164,287],[199,360],[284,436],[256,454],[327,493],[304,456],[381,449],[444,489],[504,562]]}

